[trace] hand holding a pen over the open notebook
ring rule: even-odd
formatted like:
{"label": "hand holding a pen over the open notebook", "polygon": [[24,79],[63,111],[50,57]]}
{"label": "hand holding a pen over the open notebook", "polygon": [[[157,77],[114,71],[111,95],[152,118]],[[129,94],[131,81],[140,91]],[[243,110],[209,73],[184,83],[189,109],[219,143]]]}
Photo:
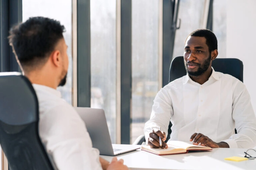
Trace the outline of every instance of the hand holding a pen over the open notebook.
{"label": "hand holding a pen over the open notebook", "polygon": [[[162,147],[159,144],[159,136],[162,140]],[[164,142],[166,140],[166,134],[163,131],[159,131],[158,129],[153,129],[151,133],[149,133],[148,145],[150,148],[168,148],[167,144]]]}

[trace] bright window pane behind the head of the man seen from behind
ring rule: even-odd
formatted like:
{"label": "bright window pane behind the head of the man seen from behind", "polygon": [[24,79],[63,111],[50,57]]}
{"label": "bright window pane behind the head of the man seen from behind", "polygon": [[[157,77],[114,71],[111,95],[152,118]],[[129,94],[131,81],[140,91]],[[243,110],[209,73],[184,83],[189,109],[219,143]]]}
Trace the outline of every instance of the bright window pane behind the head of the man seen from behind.
{"label": "bright window pane behind the head of the man seen from behind", "polygon": [[[58,10],[56,10],[58,7]],[[60,21],[65,26],[66,32],[63,36],[68,45],[68,75],[67,83],[59,87],[62,97],[72,104],[72,1],[70,0],[22,0],[22,20],[26,21],[29,17],[43,16]]]}

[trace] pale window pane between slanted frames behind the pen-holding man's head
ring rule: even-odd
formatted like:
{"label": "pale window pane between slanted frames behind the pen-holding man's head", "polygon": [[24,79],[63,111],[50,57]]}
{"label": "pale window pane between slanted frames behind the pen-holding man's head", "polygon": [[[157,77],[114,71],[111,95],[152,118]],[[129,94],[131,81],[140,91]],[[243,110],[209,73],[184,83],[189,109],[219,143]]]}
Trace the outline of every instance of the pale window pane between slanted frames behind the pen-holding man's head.
{"label": "pale window pane between slanted frames behind the pen-holding man's head", "polygon": [[181,19],[180,29],[176,30],[173,58],[183,56],[184,42],[190,32],[203,28],[205,0],[180,0],[178,19]]}

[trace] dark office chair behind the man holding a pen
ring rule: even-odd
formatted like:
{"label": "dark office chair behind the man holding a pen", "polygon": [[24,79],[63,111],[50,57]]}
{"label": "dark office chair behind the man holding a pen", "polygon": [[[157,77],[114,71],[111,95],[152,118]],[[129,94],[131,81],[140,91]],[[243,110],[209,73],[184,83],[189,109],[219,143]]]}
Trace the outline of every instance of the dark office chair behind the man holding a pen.
{"label": "dark office chair behind the man holding a pen", "polygon": [[[211,66],[214,68],[216,72],[232,75],[243,82],[243,62],[241,60],[236,58],[216,58],[215,60],[213,60]],[[187,71],[185,69],[183,56],[174,58],[173,61],[171,61],[169,71],[169,82],[174,81],[186,74]],[[167,142],[170,139],[171,126],[172,124],[170,122],[165,142]],[[237,133],[236,130],[235,133]],[[141,145],[145,141],[145,136],[140,135],[133,144]]]}

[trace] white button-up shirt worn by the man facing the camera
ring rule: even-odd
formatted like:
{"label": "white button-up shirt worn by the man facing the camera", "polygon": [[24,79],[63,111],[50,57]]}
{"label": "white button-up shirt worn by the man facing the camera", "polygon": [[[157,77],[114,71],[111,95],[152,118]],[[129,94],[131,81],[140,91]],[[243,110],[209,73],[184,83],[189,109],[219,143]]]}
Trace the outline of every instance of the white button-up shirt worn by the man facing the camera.
{"label": "white button-up shirt worn by the man facing the camera", "polygon": [[168,134],[170,120],[170,140],[189,142],[192,134],[202,133],[230,148],[256,146],[256,118],[245,85],[214,69],[202,85],[187,74],[157,93],[144,127],[146,141],[153,128],[161,127]]}

